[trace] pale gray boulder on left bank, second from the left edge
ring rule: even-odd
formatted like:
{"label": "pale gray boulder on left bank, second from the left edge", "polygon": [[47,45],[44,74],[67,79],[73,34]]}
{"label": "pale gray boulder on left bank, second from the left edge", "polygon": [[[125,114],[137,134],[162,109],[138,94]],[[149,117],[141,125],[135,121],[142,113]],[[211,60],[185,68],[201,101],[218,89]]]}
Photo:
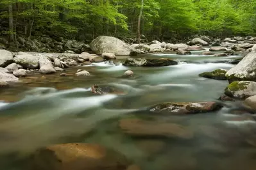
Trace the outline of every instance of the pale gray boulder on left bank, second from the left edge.
{"label": "pale gray boulder on left bank, second from the left edge", "polygon": [[37,69],[39,67],[39,57],[31,54],[18,54],[13,60],[24,68]]}

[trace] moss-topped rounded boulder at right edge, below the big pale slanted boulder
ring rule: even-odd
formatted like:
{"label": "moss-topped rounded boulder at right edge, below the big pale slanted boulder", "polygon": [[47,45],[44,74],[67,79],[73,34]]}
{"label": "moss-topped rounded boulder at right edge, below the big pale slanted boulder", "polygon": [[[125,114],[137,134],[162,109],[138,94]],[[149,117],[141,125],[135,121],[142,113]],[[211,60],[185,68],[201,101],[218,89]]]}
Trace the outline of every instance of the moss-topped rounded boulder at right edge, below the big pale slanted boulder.
{"label": "moss-topped rounded boulder at right edge, below the big pale slanted boulder", "polygon": [[234,81],[225,89],[225,95],[239,99],[245,99],[256,95],[256,82]]}

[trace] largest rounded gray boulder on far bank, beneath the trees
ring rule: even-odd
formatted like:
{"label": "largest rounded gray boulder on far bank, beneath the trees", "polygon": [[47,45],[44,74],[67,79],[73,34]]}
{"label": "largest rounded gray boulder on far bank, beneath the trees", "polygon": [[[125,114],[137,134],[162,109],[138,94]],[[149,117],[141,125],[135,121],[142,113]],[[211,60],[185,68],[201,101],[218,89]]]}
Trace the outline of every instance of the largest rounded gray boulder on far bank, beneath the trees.
{"label": "largest rounded gray boulder on far bank, beneath the trees", "polygon": [[90,49],[96,54],[112,52],[117,56],[128,56],[135,50],[130,45],[112,36],[98,36],[90,43]]}

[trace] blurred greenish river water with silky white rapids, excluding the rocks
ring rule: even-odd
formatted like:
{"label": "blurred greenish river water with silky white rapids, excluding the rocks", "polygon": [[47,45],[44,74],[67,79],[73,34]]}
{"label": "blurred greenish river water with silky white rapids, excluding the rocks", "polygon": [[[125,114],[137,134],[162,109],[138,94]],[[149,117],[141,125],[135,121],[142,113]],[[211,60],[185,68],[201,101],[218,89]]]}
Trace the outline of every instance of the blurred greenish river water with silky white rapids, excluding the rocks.
{"label": "blurred greenish river water with silky white rapids, excluding the rocks", "polygon": [[[199,54],[145,54],[139,57],[173,58],[179,65],[129,68],[110,61],[66,70],[74,75],[81,68],[92,77],[35,74],[10,89],[1,89],[0,169],[20,170],[22,158],[56,143],[103,144],[146,170],[256,169],[256,124],[248,114],[235,115],[224,107],[207,114],[163,116],[145,109],[162,102],[216,101],[223,95],[227,81],[198,74],[228,70],[234,66],[228,61],[240,56]],[[135,77],[122,79],[130,69]],[[90,91],[93,84],[109,84],[128,94],[94,95]],[[119,128],[119,120],[124,118],[176,123],[192,130],[194,137],[131,137]]]}

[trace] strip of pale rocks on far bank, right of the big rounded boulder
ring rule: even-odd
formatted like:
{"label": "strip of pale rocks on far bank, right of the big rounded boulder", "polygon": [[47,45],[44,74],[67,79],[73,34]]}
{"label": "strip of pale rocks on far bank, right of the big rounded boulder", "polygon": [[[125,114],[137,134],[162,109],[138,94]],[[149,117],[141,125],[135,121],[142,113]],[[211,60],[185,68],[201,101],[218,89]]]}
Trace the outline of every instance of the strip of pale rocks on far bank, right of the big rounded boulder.
{"label": "strip of pale rocks on far bank, right of the big rounded boulder", "polygon": [[[192,39],[187,43],[166,43],[158,42],[157,40],[151,43],[134,43],[131,46],[137,50],[138,53],[148,53],[148,52],[170,52],[175,51],[180,55],[189,55],[191,50],[205,50],[205,46],[211,46],[210,51],[223,51],[223,53],[216,56],[228,56],[234,52],[250,52],[256,48],[256,38],[252,36],[241,37],[237,36],[234,38],[221,39],[210,39],[208,36],[201,36]],[[255,47],[253,47],[255,45]],[[214,47],[220,46],[220,47]],[[225,53],[224,53],[225,52]],[[204,55],[214,55],[213,53],[205,53]]]}

